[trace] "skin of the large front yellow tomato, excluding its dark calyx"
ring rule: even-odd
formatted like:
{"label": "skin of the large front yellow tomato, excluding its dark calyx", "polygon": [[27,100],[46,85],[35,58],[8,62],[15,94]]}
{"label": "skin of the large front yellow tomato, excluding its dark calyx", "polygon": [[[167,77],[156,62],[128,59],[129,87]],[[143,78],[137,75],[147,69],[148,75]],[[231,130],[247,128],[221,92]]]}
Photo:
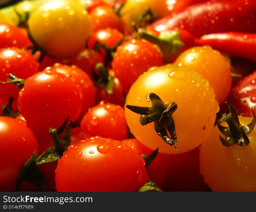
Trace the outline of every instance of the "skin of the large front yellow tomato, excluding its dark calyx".
{"label": "skin of the large front yellow tomato, excluding its dark calyx", "polygon": [[159,152],[179,154],[199,146],[214,126],[219,105],[209,82],[199,73],[174,64],[152,67],[139,76],[127,94],[126,105],[151,106],[145,96],[157,94],[163,102],[174,101],[173,113],[177,134],[177,148],[166,144],[154,130],[154,123],[142,126],[140,115],[125,108],[125,117],[131,133],[144,145]]}

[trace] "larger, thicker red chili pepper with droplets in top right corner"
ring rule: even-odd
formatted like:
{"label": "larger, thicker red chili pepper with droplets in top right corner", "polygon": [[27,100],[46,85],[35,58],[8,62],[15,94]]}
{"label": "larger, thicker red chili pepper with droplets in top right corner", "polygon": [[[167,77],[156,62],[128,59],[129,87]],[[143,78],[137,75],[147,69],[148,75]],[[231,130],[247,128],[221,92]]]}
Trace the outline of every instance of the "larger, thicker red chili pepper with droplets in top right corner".
{"label": "larger, thicker red chili pepper with droplets in top right corner", "polygon": [[227,31],[256,33],[256,1],[206,1],[189,6],[174,16],[160,19],[152,27],[157,31],[179,27],[195,37]]}

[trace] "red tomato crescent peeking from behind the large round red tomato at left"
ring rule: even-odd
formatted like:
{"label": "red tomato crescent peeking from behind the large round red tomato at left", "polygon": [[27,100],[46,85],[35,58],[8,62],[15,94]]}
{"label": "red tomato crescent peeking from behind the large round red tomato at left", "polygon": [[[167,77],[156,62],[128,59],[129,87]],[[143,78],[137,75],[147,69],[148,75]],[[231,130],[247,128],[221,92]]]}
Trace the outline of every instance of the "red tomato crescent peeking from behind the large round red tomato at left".
{"label": "red tomato crescent peeking from behind the large round red tomato at left", "polygon": [[57,72],[70,76],[71,80],[77,85],[77,88],[82,93],[82,109],[78,118],[74,121],[76,125],[79,125],[79,122],[86,114],[88,109],[95,105],[96,87],[88,74],[86,74],[82,69],[79,69],[77,66],[56,63],[52,67]]}

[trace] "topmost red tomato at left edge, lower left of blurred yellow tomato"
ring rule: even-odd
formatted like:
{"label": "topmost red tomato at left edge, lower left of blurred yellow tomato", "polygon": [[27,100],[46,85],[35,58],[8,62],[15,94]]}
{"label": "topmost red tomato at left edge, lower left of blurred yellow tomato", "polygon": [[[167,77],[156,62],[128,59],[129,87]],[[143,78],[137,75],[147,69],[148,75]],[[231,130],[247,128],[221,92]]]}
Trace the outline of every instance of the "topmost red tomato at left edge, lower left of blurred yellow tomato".
{"label": "topmost red tomato at left edge, lower left of blurred yellow tomato", "polygon": [[24,30],[9,24],[0,24],[0,48],[27,48],[32,43]]}

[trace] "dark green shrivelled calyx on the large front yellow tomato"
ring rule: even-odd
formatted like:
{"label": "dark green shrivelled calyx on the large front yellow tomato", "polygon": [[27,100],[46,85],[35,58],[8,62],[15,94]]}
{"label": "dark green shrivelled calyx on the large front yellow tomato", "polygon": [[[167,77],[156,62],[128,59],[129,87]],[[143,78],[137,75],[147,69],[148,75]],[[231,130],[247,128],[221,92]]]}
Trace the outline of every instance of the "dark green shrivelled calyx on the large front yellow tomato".
{"label": "dark green shrivelled calyx on the large front yellow tomato", "polygon": [[148,102],[151,100],[152,106],[140,107],[135,105],[126,105],[126,108],[141,115],[141,125],[147,125],[154,122],[155,131],[161,139],[170,146],[174,145],[175,150],[178,151],[176,145],[177,136],[175,123],[172,117],[172,114],[177,109],[177,104],[173,101],[164,103],[155,93],[147,94],[146,99]]}

